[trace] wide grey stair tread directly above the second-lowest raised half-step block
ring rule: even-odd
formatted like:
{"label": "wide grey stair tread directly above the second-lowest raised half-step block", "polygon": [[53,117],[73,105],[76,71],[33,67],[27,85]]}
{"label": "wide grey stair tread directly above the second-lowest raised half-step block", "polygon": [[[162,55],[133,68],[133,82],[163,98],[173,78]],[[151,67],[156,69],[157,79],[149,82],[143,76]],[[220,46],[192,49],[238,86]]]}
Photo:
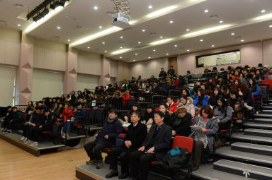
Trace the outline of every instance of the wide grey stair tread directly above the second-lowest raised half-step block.
{"label": "wide grey stair tread directly above the second-lowest raised half-step block", "polygon": [[250,136],[244,133],[232,133],[232,140],[241,140],[250,143],[263,143],[267,145],[272,145],[272,138],[261,137],[261,136]]}

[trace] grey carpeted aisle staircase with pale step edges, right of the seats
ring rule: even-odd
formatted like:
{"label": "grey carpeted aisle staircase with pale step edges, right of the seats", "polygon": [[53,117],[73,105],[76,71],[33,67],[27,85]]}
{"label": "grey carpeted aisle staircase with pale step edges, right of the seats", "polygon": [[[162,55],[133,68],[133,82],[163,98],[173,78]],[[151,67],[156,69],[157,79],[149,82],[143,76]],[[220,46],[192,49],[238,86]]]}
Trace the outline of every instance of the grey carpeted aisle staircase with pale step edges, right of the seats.
{"label": "grey carpeted aisle staircase with pale step edges, right of the seats", "polygon": [[[244,123],[244,131],[232,133],[232,144],[219,148],[213,164],[201,165],[209,173],[199,169],[193,176],[200,179],[272,179],[272,101],[263,106],[254,120]],[[212,173],[211,173],[212,172]],[[223,178],[224,176],[224,178]],[[247,178],[246,178],[247,177]]]}

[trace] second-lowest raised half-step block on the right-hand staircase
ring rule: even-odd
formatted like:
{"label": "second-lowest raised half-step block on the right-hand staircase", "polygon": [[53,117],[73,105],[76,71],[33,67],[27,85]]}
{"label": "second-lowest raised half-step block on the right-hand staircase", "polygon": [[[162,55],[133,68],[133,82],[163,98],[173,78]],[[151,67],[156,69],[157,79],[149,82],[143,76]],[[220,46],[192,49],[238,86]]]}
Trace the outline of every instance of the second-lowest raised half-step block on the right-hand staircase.
{"label": "second-lowest raised half-step block on the right-hand staircase", "polygon": [[239,150],[242,152],[251,152],[259,155],[271,155],[272,156],[272,146],[268,145],[257,145],[251,143],[233,143],[232,150]]}

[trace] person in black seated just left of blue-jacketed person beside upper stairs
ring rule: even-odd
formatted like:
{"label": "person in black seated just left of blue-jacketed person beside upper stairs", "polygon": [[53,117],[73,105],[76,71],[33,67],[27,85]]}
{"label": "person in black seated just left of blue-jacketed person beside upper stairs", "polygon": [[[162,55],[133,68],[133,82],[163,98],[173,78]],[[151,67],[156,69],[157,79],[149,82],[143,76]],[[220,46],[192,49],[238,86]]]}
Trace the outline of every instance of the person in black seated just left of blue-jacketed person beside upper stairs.
{"label": "person in black seated just left of blue-jacketed person beside upper stairs", "polygon": [[244,85],[244,83],[238,84],[238,90],[239,95],[243,98],[244,107],[251,111],[253,109],[251,91],[249,90],[249,88],[246,87],[246,85]]}

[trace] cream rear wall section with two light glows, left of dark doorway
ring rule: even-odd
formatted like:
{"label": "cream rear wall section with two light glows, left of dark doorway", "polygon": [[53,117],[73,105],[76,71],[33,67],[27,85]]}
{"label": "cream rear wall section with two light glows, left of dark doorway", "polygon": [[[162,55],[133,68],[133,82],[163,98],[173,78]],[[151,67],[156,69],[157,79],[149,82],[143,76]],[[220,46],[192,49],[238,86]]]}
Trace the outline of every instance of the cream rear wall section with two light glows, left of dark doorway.
{"label": "cream rear wall section with two light glows, left of dark doorway", "polygon": [[167,67],[167,58],[132,63],[130,64],[130,76],[137,78],[140,75],[142,78],[150,78],[154,75],[155,77],[158,77],[161,68],[164,68],[164,71],[167,71]]}

